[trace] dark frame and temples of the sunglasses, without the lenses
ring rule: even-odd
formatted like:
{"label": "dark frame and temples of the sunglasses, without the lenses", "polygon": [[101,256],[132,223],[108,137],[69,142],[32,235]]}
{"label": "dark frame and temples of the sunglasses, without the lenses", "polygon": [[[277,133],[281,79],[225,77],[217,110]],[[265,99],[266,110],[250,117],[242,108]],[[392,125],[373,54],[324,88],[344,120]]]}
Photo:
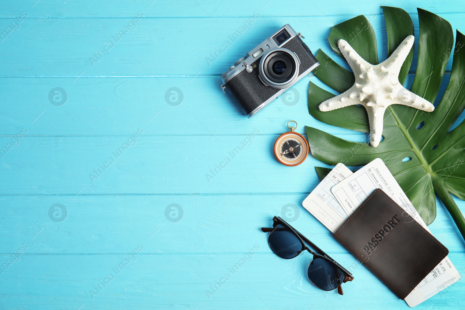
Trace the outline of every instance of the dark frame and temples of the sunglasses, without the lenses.
{"label": "dark frame and temples of the sunglasses, without the lenses", "polygon": [[[302,235],[299,231],[297,231],[294,227],[292,227],[290,224],[288,224],[284,219],[282,219],[281,217],[274,217],[273,218],[273,228],[267,228],[267,227],[262,227],[261,230],[263,232],[270,232],[270,235],[271,233],[276,229],[276,225],[278,224],[281,224],[283,226],[285,226],[287,229],[289,229],[289,231],[291,231],[300,241],[300,244],[302,244],[302,250],[299,251],[299,254],[297,254],[296,256],[294,257],[291,257],[291,258],[284,258],[284,257],[280,257],[275,251],[273,251],[273,253],[275,253],[276,255],[278,255],[280,258],[283,258],[283,259],[292,259],[292,258],[295,258],[297,256],[300,255],[300,253],[302,253],[303,251],[308,251],[310,252],[312,255],[313,255],[313,259],[314,260],[315,258],[323,258],[325,260],[327,260],[328,262],[332,263],[332,264],[335,264],[336,267],[338,267],[339,270],[341,270],[343,273],[344,273],[344,280],[342,281],[342,283],[345,283],[347,281],[352,281],[353,280],[353,276],[352,276],[352,273],[350,273],[348,270],[346,270],[344,267],[342,267],[338,262],[336,262],[334,259],[332,259],[332,257],[330,257],[328,254],[326,254],[323,250],[321,250],[318,246],[316,246],[312,241],[310,241],[308,238],[306,238],[304,235]],[[316,252],[318,253],[315,253],[313,252],[309,247],[307,247],[304,243],[304,241],[307,243],[307,244],[310,244],[310,246],[316,250]],[[270,246],[270,249],[272,249],[271,245],[270,245],[270,241],[268,239],[268,245]],[[311,263],[312,261],[310,261]],[[310,264],[309,263],[309,264]],[[310,282],[312,282],[312,280],[309,278]],[[313,285],[315,285],[313,282],[312,282]],[[317,285],[315,285],[317,288],[319,288]],[[324,290],[324,289],[321,289],[319,288],[320,290]],[[336,289],[336,288],[334,288]],[[334,290],[334,289],[331,289],[331,290]],[[339,291],[340,290],[340,291]],[[326,290],[326,291],[329,291],[329,290]],[[339,291],[339,294],[341,294],[342,292],[342,289],[340,289],[340,285],[338,287],[338,291]],[[341,294],[342,295],[342,294]]]}

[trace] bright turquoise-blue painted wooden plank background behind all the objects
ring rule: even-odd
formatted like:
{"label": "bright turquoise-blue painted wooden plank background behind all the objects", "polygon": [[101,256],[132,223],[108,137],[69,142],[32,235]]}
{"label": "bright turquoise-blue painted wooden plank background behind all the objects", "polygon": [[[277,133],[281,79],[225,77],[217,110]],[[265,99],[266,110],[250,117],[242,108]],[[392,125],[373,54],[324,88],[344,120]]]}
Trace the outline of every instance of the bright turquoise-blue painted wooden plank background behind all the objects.
{"label": "bright turquoise-blue painted wooden plank background behind all the objects", "polygon": [[[291,119],[300,133],[310,125],[365,141],[308,114],[308,81],[318,80],[303,79],[252,119],[219,87],[221,73],[286,23],[329,54],[330,27],[365,14],[385,59],[383,4],[409,12],[415,34],[417,6],[465,31],[462,0],[3,1],[0,308],[407,309],[301,207],[324,164],[274,158]],[[292,204],[289,221],[352,270],[344,296],[309,283],[308,254],[284,260],[269,249],[259,227]],[[430,228],[464,277],[465,242],[440,202]],[[417,308],[463,308],[463,281]]]}

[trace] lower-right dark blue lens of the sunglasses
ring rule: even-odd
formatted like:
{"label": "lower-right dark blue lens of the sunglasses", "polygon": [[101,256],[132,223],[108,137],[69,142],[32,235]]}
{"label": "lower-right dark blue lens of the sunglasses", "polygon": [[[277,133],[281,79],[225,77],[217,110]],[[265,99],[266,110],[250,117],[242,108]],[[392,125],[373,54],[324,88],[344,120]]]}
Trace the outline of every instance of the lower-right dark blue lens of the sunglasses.
{"label": "lower-right dark blue lens of the sunglasses", "polygon": [[334,290],[344,280],[344,273],[330,261],[317,257],[308,266],[308,278],[321,290]]}

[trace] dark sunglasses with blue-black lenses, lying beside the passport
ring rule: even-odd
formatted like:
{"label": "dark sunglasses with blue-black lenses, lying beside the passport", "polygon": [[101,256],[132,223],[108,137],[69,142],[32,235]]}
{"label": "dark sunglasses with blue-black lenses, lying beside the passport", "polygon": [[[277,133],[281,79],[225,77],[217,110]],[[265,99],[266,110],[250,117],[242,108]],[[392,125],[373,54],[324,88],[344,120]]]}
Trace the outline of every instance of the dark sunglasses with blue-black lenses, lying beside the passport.
{"label": "dark sunglasses with blue-black lenses, lying beside the passport", "polygon": [[[273,218],[273,228],[262,227],[263,232],[269,232],[268,245],[271,250],[281,258],[291,259],[297,257],[303,251],[309,251],[313,259],[308,265],[308,279],[320,290],[338,289],[339,295],[343,295],[341,284],[352,281],[352,273],[339,265],[318,246],[308,240],[299,231],[280,217]],[[310,250],[305,244],[316,250]]]}

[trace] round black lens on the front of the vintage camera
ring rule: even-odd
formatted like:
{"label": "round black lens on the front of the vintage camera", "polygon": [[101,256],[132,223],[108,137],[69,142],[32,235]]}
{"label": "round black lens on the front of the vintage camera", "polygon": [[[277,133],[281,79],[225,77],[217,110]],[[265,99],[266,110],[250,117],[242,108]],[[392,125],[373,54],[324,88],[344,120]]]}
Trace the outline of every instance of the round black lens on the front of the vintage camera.
{"label": "round black lens on the front of the vintage camera", "polygon": [[265,76],[273,83],[286,83],[296,72],[296,63],[289,53],[270,53],[263,62]]}

